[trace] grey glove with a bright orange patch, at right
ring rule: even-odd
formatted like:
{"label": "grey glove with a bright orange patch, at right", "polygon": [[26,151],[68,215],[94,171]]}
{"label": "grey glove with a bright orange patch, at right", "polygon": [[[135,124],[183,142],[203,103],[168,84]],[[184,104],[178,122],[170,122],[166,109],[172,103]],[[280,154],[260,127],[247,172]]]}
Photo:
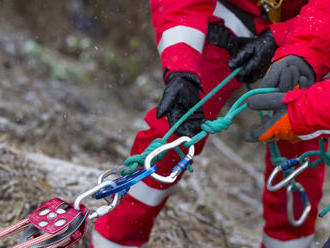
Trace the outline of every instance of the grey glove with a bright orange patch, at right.
{"label": "grey glove with a bright orange patch, at right", "polygon": [[247,104],[251,109],[275,112],[272,117],[265,115],[261,124],[252,125],[245,134],[246,141],[288,140],[292,143],[300,141],[292,130],[287,104],[281,103],[285,94],[282,92],[258,94],[247,99]]}

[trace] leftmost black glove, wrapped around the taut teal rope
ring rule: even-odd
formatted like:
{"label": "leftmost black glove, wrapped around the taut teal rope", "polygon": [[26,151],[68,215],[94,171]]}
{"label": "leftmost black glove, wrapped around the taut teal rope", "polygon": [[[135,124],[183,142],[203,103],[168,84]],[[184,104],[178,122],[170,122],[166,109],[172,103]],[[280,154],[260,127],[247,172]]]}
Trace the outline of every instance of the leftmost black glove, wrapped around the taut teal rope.
{"label": "leftmost black glove, wrapped around the taut teal rope", "polygon": [[[171,73],[166,80],[163,97],[157,109],[157,118],[167,116],[170,126],[173,126],[199,100],[199,90],[202,90],[199,78],[189,72]],[[175,131],[178,136],[192,137],[201,131],[205,117],[203,110],[196,110]]]}

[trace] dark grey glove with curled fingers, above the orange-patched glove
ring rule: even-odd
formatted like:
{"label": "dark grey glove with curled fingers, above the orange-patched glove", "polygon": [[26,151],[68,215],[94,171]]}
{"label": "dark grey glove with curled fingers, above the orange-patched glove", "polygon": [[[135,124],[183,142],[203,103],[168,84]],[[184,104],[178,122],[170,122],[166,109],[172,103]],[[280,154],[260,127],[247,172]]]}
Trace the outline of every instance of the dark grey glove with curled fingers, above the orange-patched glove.
{"label": "dark grey glove with curled fingers, above the orange-patched glove", "polygon": [[261,88],[279,88],[282,92],[300,88],[309,88],[315,82],[313,68],[301,57],[289,55],[272,64],[262,79]]}

